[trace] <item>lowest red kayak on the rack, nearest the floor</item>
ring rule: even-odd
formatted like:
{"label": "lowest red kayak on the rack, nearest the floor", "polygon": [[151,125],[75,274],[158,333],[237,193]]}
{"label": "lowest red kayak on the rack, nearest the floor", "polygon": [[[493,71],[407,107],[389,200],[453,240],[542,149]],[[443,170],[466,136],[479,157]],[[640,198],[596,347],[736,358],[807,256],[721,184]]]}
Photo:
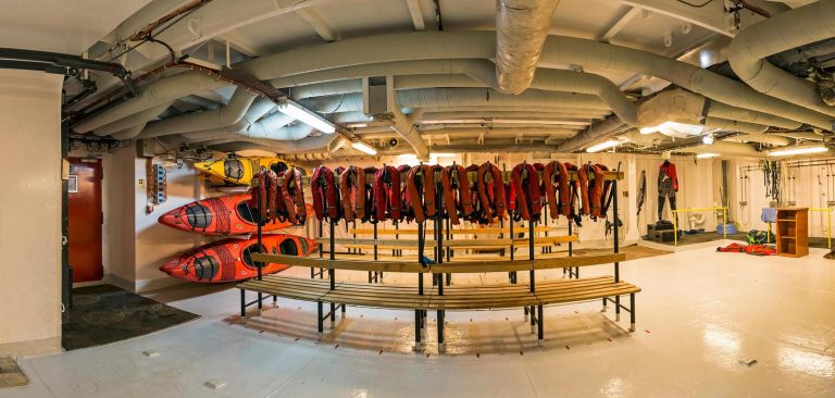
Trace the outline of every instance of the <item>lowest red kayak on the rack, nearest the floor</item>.
{"label": "lowest red kayak on the rack, nearest the floor", "polygon": [[[296,235],[264,235],[263,252],[289,256],[309,256],[316,250],[312,239]],[[160,271],[185,281],[223,283],[248,279],[258,276],[258,269],[250,258],[256,252],[258,239],[228,238],[203,245],[169,260]],[[264,264],[262,275],[273,274],[289,268],[285,264]]]}

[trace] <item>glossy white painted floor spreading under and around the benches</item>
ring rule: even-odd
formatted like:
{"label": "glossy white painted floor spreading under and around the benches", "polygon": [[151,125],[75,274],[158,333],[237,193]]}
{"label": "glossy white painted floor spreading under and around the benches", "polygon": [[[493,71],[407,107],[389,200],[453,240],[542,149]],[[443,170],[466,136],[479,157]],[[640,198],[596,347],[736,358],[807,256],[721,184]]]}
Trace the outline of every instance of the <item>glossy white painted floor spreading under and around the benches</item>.
{"label": "glossy white painted floor spreading under and around the benches", "polygon": [[[153,298],[203,318],[21,359],[32,383],[0,389],[0,398],[835,397],[835,261],[822,259],[825,252],[756,258],[708,248],[630,261],[623,277],[644,289],[637,332],[624,331],[626,316],[613,322],[611,309],[601,314],[599,302],[553,307],[538,348],[519,310],[448,313],[450,353],[441,356],[434,345],[409,351],[406,311],[349,307],[315,341],[310,303],[279,299],[277,309],[240,325],[237,290],[177,288]],[[583,276],[610,272],[587,268]],[[486,277],[501,275],[456,283]]]}

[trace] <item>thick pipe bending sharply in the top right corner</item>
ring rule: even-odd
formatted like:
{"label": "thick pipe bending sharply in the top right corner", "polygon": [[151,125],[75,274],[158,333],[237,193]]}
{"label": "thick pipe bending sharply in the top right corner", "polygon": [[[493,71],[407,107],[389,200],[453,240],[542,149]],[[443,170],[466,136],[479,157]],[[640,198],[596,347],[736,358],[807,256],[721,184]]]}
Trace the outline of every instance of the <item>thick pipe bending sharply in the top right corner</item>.
{"label": "thick pipe bending sharply in the top right corner", "polygon": [[820,0],[774,15],[739,32],[727,48],[727,60],[734,73],[756,90],[835,116],[835,108],[823,102],[814,83],[765,60],[778,52],[835,37],[834,20],[834,0]]}

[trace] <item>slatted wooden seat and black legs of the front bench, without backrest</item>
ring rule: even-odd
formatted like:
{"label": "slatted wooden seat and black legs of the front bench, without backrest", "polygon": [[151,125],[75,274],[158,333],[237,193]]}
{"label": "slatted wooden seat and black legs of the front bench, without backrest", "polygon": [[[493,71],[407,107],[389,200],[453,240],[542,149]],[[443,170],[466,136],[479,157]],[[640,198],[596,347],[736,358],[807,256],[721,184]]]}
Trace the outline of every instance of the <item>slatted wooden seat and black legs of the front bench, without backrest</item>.
{"label": "slatted wooden seat and black legs of the front bench, without backrest", "polygon": [[[246,319],[246,291],[258,291],[274,297],[312,301],[317,304],[319,333],[324,333],[324,320],[336,320],[337,308],[346,312],[346,306],[415,311],[415,349],[421,349],[421,331],[425,328],[426,311],[438,314],[438,345],[444,350],[445,311],[491,310],[525,308],[531,312],[531,332],[538,335],[539,344],[545,338],[543,307],[570,302],[603,299],[614,302],[612,297],[630,296],[631,306],[621,306],[630,312],[630,332],[635,329],[635,294],[640,291],[626,282],[614,282],[611,276],[577,279],[538,282],[535,291],[525,284],[496,284],[481,286],[451,286],[444,289],[431,287],[420,293],[416,286],[379,285],[338,282],[331,288],[331,281],[308,279],[282,275],[266,275],[262,281],[250,279],[237,286],[241,291],[241,318]],[[331,302],[331,312],[324,314],[324,303]],[[619,303],[620,306],[620,303]],[[618,311],[620,313],[620,311]],[[619,319],[618,319],[619,320]],[[538,327],[537,327],[538,326]]]}

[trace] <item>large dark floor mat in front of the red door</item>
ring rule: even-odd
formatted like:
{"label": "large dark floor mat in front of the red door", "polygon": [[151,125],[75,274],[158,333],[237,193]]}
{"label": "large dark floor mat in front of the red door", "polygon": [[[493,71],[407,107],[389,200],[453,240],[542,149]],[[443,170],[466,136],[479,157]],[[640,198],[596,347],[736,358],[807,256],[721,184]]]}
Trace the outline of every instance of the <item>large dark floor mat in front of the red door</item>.
{"label": "large dark floor mat in front of the red door", "polygon": [[63,325],[64,349],[100,346],[153,333],[199,315],[111,285],[73,289],[73,307]]}

